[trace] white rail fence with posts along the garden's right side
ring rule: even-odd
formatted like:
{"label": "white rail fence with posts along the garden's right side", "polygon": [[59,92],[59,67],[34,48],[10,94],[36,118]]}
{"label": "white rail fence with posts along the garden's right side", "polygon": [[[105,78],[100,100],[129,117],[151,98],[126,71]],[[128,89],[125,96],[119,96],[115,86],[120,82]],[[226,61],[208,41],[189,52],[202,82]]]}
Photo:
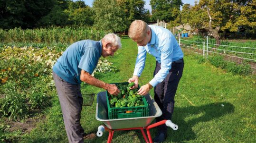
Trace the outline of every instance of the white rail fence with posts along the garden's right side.
{"label": "white rail fence with posts along the garden's right side", "polygon": [[187,48],[192,52],[202,54],[206,57],[211,53],[215,53],[223,55],[226,60],[235,61],[238,64],[247,62],[254,68],[254,70],[256,70],[255,44],[251,44],[252,47],[213,44],[209,42],[209,37],[207,36],[206,42],[191,41],[189,39],[185,40],[179,37],[179,45],[182,48]]}

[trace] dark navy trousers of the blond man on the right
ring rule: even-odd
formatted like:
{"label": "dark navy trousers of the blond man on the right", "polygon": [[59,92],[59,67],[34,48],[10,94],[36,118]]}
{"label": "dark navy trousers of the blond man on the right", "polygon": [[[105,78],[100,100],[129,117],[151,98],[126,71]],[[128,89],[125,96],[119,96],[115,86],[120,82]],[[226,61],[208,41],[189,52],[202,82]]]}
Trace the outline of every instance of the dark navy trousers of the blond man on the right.
{"label": "dark navy trousers of the blond man on the right", "polygon": [[[164,80],[154,87],[154,99],[162,111],[162,115],[156,118],[156,121],[161,121],[163,119],[171,119],[173,109],[174,109],[174,97],[177,91],[180,78],[183,73],[184,61],[181,60],[180,63],[172,63],[171,70],[169,74],[164,78]],[[154,71],[154,76],[161,69],[161,64],[156,61],[156,67]],[[166,133],[167,126],[164,124],[159,126],[159,132]]]}

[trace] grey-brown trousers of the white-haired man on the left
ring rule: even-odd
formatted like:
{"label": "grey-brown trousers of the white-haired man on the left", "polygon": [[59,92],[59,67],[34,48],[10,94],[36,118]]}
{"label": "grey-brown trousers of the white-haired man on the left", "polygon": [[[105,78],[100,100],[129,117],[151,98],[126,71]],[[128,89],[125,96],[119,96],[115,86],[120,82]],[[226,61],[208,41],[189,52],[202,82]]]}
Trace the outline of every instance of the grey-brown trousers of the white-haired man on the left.
{"label": "grey-brown trousers of the white-haired man on the left", "polygon": [[80,124],[83,98],[80,85],[67,83],[53,72],[53,79],[62,110],[69,143],[84,143],[84,129]]}

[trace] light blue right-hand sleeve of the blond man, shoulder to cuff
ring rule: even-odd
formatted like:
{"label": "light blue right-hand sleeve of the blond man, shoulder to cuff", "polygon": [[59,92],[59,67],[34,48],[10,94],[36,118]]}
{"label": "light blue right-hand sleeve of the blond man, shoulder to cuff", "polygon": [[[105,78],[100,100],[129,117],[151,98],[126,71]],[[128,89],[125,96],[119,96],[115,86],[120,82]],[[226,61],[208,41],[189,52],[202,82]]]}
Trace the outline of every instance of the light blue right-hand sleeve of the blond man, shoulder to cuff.
{"label": "light blue right-hand sleeve of the blond man, shoulder to cuff", "polygon": [[171,61],[173,57],[173,42],[171,37],[165,38],[161,45],[159,45],[159,49],[161,51],[161,69],[149,82],[153,87],[161,83],[171,69]]}

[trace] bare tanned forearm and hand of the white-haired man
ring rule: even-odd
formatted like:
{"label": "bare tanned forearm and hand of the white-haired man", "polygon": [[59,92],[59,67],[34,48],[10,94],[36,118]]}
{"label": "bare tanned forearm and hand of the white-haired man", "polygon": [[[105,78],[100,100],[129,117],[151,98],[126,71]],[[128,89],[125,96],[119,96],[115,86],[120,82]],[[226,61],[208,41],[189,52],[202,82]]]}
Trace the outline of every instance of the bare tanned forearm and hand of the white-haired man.
{"label": "bare tanned forearm and hand of the white-haired man", "polygon": [[99,88],[103,88],[104,90],[107,90],[110,94],[117,95],[120,90],[117,88],[114,84],[106,84],[101,80],[98,80],[94,76],[90,75],[88,72],[82,69],[80,80],[85,82],[86,84],[90,84]]}

